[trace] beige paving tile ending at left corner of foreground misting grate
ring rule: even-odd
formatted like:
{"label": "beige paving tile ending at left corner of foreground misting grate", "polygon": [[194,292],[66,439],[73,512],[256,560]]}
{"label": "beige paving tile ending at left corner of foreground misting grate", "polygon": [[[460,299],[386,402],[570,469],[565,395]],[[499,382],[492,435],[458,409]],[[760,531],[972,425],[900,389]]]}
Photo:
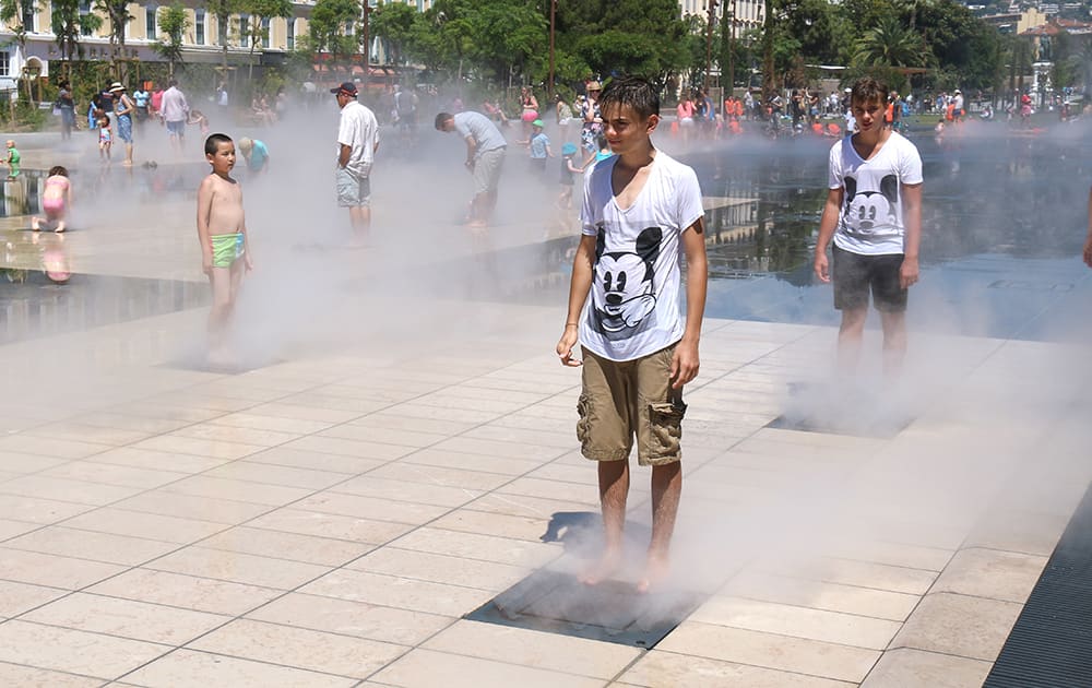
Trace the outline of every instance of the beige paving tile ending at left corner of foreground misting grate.
{"label": "beige paving tile ending at left corner of foreground misting grate", "polygon": [[402,645],[422,643],[454,622],[438,614],[300,593],[274,600],[247,618]]}

